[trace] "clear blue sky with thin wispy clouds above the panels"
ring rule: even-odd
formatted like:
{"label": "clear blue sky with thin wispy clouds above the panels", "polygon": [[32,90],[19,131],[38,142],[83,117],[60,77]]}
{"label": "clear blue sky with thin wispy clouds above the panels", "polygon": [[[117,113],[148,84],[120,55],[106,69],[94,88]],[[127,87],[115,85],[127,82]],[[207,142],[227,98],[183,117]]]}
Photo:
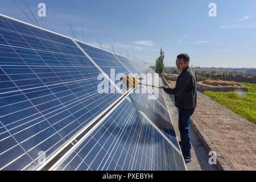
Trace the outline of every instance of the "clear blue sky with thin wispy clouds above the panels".
{"label": "clear blue sky with thin wispy clouds above the panels", "polygon": [[[162,47],[166,66],[188,53],[193,67],[256,68],[255,0],[24,1],[39,22],[38,4],[46,4],[48,30],[72,36],[71,23],[77,39],[97,47],[100,40],[109,51],[113,44],[115,52],[149,65]],[[31,23],[14,2],[20,4],[1,0],[0,13]],[[209,16],[210,3],[216,16]]]}

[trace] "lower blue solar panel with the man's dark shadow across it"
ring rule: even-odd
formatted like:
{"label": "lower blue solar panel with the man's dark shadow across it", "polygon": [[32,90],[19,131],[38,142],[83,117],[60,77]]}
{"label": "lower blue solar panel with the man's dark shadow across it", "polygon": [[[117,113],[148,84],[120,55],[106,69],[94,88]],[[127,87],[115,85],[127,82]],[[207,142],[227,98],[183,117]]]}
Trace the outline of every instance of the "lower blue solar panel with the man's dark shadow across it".
{"label": "lower blue solar panel with the man's dark shadow across it", "polygon": [[185,170],[182,156],[128,100],[57,170]]}

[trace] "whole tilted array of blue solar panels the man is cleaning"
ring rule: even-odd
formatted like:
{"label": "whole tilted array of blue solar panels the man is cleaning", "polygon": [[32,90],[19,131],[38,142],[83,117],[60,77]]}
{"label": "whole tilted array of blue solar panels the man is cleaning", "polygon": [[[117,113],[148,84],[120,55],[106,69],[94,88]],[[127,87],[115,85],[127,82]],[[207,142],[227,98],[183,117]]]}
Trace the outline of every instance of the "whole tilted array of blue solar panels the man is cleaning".
{"label": "whole tilted array of blue solar panels the man is cleaning", "polygon": [[[153,73],[0,15],[0,169],[185,169],[162,90],[156,100],[110,93],[120,84],[110,69]],[[108,92],[98,92],[98,75]]]}

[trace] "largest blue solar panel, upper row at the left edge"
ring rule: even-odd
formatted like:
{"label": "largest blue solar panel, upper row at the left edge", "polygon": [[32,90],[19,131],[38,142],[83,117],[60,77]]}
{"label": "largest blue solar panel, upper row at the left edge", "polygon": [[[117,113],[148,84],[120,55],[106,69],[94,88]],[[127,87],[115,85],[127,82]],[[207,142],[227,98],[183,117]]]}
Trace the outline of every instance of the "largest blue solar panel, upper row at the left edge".
{"label": "largest blue solar panel, upper row at the left edge", "polygon": [[0,16],[0,44],[0,169],[35,168],[121,97],[71,39]]}

